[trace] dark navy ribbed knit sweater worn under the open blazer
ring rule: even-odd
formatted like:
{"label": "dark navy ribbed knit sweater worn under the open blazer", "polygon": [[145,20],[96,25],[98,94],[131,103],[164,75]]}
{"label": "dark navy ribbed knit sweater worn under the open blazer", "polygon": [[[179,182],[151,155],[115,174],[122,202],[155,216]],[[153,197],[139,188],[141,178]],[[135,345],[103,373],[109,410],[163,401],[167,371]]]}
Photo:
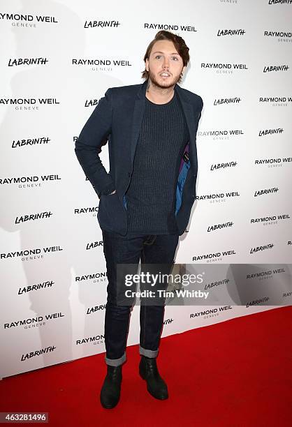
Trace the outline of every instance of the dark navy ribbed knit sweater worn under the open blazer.
{"label": "dark navy ribbed knit sweater worn under the open blazer", "polygon": [[133,174],[126,192],[129,234],[174,234],[175,193],[189,130],[176,93],[166,104],[145,97]]}

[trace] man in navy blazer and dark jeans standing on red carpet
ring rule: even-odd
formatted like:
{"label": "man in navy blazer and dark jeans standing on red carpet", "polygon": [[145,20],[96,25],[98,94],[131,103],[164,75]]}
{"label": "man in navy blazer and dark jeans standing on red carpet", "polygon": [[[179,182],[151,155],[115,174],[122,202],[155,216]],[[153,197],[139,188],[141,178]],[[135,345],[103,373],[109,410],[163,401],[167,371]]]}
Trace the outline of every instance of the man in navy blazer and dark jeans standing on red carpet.
{"label": "man in navy blazer and dark jeans standing on red carpet", "polygon": [[[159,31],[147,47],[143,84],[105,92],[78,137],[75,153],[100,198],[98,223],[108,271],[107,375],[101,405],[119,402],[130,307],[117,304],[118,264],[172,265],[196,197],[196,132],[203,100],[177,83],[189,62],[180,36]],[[98,153],[108,142],[110,171]],[[164,307],[140,306],[139,373],[157,399],[168,398],[156,357]]]}

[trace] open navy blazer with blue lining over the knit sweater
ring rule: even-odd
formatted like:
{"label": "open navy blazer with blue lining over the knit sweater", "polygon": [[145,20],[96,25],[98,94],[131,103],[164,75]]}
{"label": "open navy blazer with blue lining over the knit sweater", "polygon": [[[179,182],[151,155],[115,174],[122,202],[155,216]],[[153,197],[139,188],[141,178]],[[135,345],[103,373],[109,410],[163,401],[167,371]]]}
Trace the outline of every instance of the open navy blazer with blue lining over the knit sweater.
{"label": "open navy blazer with blue lining over the knit sweater", "polygon": [[[125,193],[131,182],[133,159],[145,110],[146,88],[147,80],[143,84],[108,89],[75,142],[78,161],[100,199],[97,218],[101,230],[123,236],[127,232]],[[189,128],[189,142],[182,156],[176,189],[175,218],[181,235],[189,223],[196,197],[196,133],[203,100],[178,84],[175,84],[174,89]],[[107,142],[109,172],[98,156],[101,147]],[[113,190],[116,193],[108,194]]]}

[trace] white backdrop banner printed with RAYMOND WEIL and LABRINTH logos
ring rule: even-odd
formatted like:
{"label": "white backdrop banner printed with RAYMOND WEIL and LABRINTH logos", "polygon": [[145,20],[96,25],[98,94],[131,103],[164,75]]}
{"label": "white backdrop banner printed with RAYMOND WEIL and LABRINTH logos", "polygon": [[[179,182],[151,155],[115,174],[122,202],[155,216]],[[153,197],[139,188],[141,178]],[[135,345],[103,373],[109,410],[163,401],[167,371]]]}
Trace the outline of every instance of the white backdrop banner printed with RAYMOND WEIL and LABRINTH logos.
{"label": "white backdrop banner printed with RAYMOND WEIL and LABRINTH logos", "polygon": [[291,15],[276,0],[1,1],[0,377],[105,351],[98,197],[75,140],[108,88],[143,82],[160,29],[186,41],[181,86],[204,102],[175,262],[226,266],[204,285],[223,304],[169,304],[162,336],[291,304]]}

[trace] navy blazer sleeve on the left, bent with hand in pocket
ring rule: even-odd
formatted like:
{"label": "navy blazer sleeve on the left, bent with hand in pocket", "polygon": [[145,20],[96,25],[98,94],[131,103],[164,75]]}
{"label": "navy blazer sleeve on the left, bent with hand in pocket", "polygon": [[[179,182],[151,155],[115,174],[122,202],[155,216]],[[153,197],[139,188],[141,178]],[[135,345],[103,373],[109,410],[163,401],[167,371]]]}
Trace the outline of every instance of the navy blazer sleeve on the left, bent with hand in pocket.
{"label": "navy blazer sleeve on the left, bent with hand in pocket", "polygon": [[101,147],[108,142],[111,128],[112,92],[111,89],[108,89],[105,96],[99,100],[75,142],[75,154],[98,197],[115,190],[115,183],[98,156],[101,153]]}

